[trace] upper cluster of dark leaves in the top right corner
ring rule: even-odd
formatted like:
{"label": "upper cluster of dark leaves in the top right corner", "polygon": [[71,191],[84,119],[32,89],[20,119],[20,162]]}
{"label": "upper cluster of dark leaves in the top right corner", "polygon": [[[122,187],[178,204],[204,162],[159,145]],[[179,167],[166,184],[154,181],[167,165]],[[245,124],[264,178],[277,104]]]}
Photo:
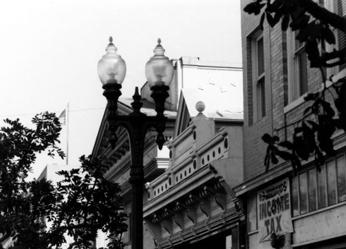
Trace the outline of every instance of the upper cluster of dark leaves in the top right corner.
{"label": "upper cluster of dark leaves in the top right corner", "polygon": [[266,19],[271,27],[281,20],[282,30],[286,31],[289,27],[297,30],[295,38],[305,43],[311,67],[333,67],[346,62],[346,48],[330,53],[325,50],[325,44],[336,44],[332,28],[346,33],[346,19],[318,6],[312,0],[255,0],[244,11],[255,15],[262,12],[262,29]]}

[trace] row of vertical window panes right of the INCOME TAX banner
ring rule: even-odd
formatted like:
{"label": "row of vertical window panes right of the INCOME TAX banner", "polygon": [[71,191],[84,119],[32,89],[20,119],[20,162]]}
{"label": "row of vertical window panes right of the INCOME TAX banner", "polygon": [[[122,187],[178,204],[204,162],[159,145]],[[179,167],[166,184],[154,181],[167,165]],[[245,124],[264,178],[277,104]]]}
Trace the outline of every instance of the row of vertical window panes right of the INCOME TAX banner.
{"label": "row of vertical window panes right of the INCOME TAX banner", "polygon": [[346,201],[345,154],[310,168],[292,179],[293,216]]}

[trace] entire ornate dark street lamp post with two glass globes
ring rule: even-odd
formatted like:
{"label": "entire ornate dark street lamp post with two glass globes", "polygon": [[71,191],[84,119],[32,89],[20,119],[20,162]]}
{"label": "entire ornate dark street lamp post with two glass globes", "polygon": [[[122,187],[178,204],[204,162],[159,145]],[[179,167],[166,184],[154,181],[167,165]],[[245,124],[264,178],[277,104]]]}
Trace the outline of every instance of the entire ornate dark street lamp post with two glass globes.
{"label": "entire ornate dark street lamp post with two glass globes", "polygon": [[134,102],[131,103],[132,113],[128,116],[119,116],[116,113],[118,109],[118,98],[121,95],[121,83],[125,78],[125,61],[116,53],[116,46],[109,38],[109,45],[106,48],[107,53],[98,62],[98,76],[103,84],[103,95],[107,98],[107,108],[109,114],[107,122],[109,124],[109,142],[114,148],[117,142],[116,129],[121,126],[127,129],[129,134],[129,143],[131,149],[131,168],[129,183],[131,183],[131,248],[143,248],[143,150],[145,143],[145,134],[149,127],[154,127],[157,131],[156,143],[158,148],[162,149],[165,137],[166,119],[163,115],[165,111],[165,100],[169,96],[168,86],[173,77],[173,64],[168,57],[165,57],[165,50],[161,46],[161,39],[154,48],[154,56],[149,59],[145,65],[145,76],[152,90],[151,97],[155,102],[156,116],[146,116],[140,112],[143,103],[140,102],[138,87],[136,87]]}

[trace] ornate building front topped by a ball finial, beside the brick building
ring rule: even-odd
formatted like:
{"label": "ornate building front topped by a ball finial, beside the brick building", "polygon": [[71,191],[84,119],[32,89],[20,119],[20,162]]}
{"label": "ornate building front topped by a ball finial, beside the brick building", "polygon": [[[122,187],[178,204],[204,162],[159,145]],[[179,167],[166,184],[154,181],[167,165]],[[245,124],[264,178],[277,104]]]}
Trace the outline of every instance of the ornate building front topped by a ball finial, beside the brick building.
{"label": "ornate building front topped by a ball finial, beside the brick building", "polygon": [[[182,91],[165,173],[147,183],[144,220],[156,248],[242,248],[244,214],[232,188],[242,183],[242,113],[203,114]],[[215,97],[222,95],[219,93]],[[184,116],[184,113],[192,116]],[[196,114],[195,114],[196,113]],[[187,120],[191,120],[187,127]]]}

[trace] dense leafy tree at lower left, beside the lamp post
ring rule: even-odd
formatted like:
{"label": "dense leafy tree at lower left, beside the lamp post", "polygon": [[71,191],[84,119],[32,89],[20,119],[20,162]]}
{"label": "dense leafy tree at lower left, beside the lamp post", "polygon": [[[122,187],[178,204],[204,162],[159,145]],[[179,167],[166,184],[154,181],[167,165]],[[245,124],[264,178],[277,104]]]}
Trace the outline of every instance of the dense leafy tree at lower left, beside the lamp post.
{"label": "dense leafy tree at lower left, beside the lamp post", "polygon": [[66,234],[73,238],[69,248],[91,248],[98,230],[109,234],[109,248],[124,248],[120,187],[103,177],[100,160],[82,156],[79,169],[58,173],[63,180],[57,185],[45,178],[26,181],[37,152],[64,158],[57,147],[60,122],[52,113],[35,116],[36,129],[19,120],[5,122],[0,129],[0,248],[8,239],[11,248],[61,248]]}

